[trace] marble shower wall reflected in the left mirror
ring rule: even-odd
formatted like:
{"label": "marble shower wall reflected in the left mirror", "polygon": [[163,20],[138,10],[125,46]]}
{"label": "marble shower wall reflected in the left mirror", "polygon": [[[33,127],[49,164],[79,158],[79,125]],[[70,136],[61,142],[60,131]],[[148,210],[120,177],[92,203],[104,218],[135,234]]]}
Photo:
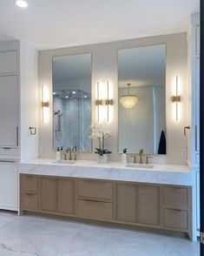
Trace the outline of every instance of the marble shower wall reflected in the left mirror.
{"label": "marble shower wall reflected in the left mirror", "polygon": [[61,132],[56,131],[57,116],[54,116],[54,149],[76,146],[77,151],[90,151],[90,98],[62,99],[54,97],[54,111],[61,111]]}

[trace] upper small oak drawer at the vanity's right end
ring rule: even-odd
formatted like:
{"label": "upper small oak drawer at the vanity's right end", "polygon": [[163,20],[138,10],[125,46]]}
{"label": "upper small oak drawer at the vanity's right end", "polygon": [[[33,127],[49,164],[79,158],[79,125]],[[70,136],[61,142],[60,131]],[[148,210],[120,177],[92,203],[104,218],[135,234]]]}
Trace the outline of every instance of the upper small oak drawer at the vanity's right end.
{"label": "upper small oak drawer at the vanity's right end", "polygon": [[164,187],[163,203],[164,205],[187,207],[188,206],[188,188]]}

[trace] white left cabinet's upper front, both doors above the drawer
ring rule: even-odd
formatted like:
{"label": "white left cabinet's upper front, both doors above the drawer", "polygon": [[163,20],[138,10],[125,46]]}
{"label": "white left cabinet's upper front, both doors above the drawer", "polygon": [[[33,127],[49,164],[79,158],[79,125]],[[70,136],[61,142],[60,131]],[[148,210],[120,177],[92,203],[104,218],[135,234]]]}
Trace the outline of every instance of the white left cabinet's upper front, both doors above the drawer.
{"label": "white left cabinet's upper front, both doors above the drawer", "polygon": [[0,51],[0,147],[18,146],[18,51]]}

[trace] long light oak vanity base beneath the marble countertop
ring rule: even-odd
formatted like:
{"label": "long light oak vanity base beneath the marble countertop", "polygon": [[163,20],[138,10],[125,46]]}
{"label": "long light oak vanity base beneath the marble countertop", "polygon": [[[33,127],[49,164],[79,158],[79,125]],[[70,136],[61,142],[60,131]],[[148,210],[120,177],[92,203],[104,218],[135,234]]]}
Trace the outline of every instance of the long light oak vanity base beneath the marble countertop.
{"label": "long light oak vanity base beneath the marble countertop", "polygon": [[187,232],[191,188],[21,174],[21,211]]}

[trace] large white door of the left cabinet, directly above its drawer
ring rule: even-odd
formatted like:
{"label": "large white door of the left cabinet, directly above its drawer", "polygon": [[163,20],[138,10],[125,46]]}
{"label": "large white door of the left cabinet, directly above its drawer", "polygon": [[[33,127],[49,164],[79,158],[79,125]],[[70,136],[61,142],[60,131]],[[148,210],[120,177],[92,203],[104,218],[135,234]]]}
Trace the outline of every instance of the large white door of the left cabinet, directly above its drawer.
{"label": "large white door of the left cabinet, directly above its drawer", "polygon": [[17,76],[0,76],[0,146],[18,145]]}

